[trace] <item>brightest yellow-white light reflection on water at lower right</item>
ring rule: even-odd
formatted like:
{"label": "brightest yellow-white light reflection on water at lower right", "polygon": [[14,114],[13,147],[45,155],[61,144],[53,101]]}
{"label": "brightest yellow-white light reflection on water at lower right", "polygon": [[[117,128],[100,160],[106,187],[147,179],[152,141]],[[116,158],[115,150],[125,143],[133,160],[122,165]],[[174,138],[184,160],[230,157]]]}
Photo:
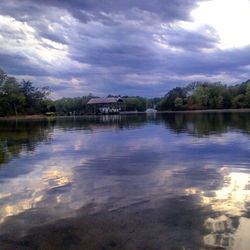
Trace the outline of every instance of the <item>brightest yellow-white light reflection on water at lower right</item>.
{"label": "brightest yellow-white light reflection on water at lower right", "polygon": [[224,167],[222,186],[206,193],[188,189],[186,192],[201,196],[204,205],[211,206],[213,216],[204,222],[207,247],[247,250],[250,245],[250,219],[247,218],[250,202],[250,173],[246,169]]}

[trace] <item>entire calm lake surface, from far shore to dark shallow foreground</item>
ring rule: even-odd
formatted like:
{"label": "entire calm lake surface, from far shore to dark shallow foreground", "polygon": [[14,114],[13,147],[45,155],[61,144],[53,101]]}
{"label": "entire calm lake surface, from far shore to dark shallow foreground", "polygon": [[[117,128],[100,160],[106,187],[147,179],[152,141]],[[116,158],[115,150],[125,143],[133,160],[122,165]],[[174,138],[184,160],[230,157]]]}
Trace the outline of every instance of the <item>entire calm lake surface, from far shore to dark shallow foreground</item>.
{"label": "entire calm lake surface, from far shore to dark shallow foreground", "polygon": [[0,122],[0,249],[249,249],[250,113]]}

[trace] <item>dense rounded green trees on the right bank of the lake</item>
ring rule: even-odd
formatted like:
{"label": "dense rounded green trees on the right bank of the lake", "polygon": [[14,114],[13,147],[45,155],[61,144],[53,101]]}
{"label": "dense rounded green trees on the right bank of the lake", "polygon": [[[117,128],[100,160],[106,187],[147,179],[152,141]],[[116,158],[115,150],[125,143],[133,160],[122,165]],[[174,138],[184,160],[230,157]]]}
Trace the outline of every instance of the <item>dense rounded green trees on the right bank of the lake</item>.
{"label": "dense rounded green trees on the right bank of the lake", "polygon": [[159,103],[160,110],[206,110],[250,108],[250,80],[234,86],[192,83],[170,90]]}

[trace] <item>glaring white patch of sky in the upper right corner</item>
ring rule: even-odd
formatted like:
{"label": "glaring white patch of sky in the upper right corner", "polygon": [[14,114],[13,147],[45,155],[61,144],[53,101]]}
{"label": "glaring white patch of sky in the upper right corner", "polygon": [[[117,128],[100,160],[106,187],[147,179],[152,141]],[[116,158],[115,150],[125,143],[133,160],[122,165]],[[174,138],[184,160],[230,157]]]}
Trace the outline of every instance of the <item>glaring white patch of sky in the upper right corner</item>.
{"label": "glaring white patch of sky in the upper right corner", "polygon": [[192,24],[187,28],[212,26],[220,37],[219,48],[229,49],[250,44],[250,1],[214,0],[199,3],[191,12]]}

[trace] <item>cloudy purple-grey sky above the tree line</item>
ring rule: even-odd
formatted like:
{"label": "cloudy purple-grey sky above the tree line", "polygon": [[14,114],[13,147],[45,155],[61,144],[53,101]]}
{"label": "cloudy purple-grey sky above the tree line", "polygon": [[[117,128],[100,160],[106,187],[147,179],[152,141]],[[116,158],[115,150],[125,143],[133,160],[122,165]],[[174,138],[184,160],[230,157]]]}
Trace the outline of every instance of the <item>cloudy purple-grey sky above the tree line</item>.
{"label": "cloudy purple-grey sky above the tree line", "polygon": [[0,68],[54,98],[250,78],[249,0],[2,0]]}

